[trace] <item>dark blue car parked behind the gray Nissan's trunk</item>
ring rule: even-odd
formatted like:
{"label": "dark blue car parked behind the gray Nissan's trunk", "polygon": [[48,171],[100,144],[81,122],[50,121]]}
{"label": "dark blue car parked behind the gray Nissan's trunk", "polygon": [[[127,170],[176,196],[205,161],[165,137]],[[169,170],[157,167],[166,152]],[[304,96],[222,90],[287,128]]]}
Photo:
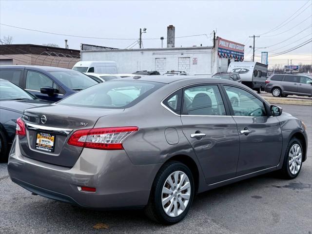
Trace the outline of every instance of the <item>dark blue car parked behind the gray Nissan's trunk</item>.
{"label": "dark blue car parked behind the gray Nissan's trunk", "polygon": [[19,85],[37,98],[49,101],[59,101],[98,84],[80,72],[45,66],[0,66],[0,78]]}

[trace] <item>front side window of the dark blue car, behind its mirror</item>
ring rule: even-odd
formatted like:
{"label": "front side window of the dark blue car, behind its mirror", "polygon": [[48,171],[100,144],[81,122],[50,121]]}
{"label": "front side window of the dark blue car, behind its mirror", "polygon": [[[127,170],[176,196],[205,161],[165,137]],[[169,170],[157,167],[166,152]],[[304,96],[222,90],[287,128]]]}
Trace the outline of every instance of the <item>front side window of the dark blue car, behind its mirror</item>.
{"label": "front side window of the dark blue car, behind its mirror", "polygon": [[27,71],[26,89],[40,91],[42,87],[53,87],[52,79],[34,71]]}

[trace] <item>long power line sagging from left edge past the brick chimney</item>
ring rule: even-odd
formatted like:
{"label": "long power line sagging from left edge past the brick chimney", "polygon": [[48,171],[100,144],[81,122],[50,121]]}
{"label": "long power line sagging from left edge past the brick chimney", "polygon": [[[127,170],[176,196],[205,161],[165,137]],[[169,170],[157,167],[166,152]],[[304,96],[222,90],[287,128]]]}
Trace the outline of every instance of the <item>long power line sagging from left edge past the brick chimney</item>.
{"label": "long power line sagging from left edge past the brick chimney", "polygon": [[[52,35],[58,35],[58,36],[66,36],[66,37],[74,37],[74,38],[87,38],[87,39],[104,39],[104,40],[137,40],[136,38],[100,38],[100,37],[86,37],[86,36],[78,36],[78,35],[69,35],[69,34],[61,34],[61,33],[53,33],[53,32],[47,32],[47,31],[41,31],[41,30],[36,30],[36,29],[30,29],[30,28],[22,28],[14,25],[9,25],[9,24],[4,24],[0,23],[0,25],[4,25],[7,27],[12,27],[12,28],[18,28],[22,30],[28,30],[28,31],[33,31],[33,32],[38,32],[38,33],[46,33],[46,34],[52,34]],[[196,35],[187,35],[187,36],[181,36],[181,37],[176,37],[176,38],[190,38],[190,37],[199,37],[199,36],[206,36],[208,39],[207,34],[196,34]],[[167,39],[167,38],[164,38]],[[145,38],[144,40],[159,40],[159,38]]]}

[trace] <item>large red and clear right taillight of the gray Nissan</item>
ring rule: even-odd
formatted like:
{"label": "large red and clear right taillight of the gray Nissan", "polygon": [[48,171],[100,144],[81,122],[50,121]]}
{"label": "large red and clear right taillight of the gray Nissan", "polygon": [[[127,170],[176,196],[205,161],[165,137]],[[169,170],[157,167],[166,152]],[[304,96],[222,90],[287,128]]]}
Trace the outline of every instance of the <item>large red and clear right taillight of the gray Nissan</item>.
{"label": "large red and clear right taillight of the gray Nissan", "polygon": [[68,144],[102,150],[122,150],[122,142],[137,132],[138,127],[92,128],[78,130]]}

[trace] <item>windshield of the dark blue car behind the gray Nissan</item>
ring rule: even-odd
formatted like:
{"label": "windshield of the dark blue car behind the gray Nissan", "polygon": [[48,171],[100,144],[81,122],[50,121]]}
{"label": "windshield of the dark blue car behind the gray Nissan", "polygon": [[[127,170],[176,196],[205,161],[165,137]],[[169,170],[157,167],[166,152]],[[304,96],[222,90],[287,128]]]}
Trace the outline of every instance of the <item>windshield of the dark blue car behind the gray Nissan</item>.
{"label": "windshield of the dark blue car behind the gray Nissan", "polygon": [[72,90],[86,89],[92,85],[98,84],[97,81],[76,71],[51,71],[52,76],[57,78],[62,84]]}

